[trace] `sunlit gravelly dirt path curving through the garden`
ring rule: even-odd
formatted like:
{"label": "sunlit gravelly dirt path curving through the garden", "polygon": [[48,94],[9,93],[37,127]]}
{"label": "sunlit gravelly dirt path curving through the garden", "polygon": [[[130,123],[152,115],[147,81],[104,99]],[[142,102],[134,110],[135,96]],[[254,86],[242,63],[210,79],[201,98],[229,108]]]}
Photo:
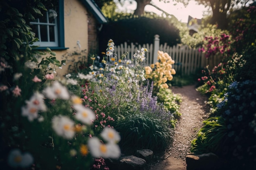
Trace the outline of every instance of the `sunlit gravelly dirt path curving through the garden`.
{"label": "sunlit gravelly dirt path curving through the garden", "polygon": [[202,127],[202,121],[209,113],[209,108],[204,104],[207,97],[196,91],[194,85],[171,89],[174,94],[182,96],[180,105],[182,116],[176,126],[173,148],[150,170],[186,170],[185,157],[189,152],[191,140],[195,138],[196,133]]}

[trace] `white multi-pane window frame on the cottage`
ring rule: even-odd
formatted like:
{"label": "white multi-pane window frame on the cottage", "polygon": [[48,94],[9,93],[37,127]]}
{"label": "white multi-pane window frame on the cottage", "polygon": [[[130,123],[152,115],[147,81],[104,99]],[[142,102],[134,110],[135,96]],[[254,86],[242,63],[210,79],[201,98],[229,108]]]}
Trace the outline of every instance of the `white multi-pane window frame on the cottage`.
{"label": "white multi-pane window frame on the cottage", "polygon": [[[45,16],[43,16],[45,17]],[[39,45],[40,47],[58,47],[58,25],[57,25],[57,17],[54,18],[54,23],[49,23],[49,15],[48,11],[46,11],[46,22],[40,22],[39,18],[36,19],[37,22],[30,22],[30,24],[37,25],[37,31],[38,31],[38,42],[34,42],[33,45]],[[47,26],[47,41],[41,41],[41,34],[40,34],[40,25],[46,25]],[[50,41],[50,34],[49,34],[49,26],[54,26],[54,42]]]}

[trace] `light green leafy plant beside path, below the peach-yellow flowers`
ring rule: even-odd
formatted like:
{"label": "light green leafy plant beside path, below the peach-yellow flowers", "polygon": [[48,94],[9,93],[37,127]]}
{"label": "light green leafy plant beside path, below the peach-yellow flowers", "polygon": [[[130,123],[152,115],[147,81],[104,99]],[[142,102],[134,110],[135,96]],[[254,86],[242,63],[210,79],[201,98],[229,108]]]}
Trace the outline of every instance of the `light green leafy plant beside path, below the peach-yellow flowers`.
{"label": "light green leafy plant beside path, below the peach-yellow flowers", "polygon": [[180,118],[179,110],[182,102],[180,95],[173,94],[170,88],[160,88],[159,93],[157,93],[157,101],[163,103],[165,108],[173,113],[174,119]]}

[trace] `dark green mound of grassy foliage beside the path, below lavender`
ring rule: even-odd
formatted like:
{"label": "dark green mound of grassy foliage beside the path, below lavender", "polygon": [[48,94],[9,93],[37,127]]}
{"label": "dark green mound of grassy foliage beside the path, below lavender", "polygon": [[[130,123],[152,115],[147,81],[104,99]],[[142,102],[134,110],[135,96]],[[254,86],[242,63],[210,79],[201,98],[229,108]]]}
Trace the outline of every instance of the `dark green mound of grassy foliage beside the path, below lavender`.
{"label": "dark green mound of grassy foliage beside the path, below lavender", "polygon": [[121,135],[120,147],[126,152],[150,149],[159,153],[173,143],[174,130],[154,117],[131,114],[126,119],[115,122],[114,126]]}

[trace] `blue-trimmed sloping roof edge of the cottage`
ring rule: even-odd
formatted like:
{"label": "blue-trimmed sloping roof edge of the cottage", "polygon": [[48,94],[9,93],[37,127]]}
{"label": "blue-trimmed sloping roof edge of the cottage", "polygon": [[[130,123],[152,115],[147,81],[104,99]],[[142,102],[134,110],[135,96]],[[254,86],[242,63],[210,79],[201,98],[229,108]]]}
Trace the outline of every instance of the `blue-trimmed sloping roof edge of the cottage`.
{"label": "blue-trimmed sloping roof edge of the cottage", "polygon": [[108,18],[104,16],[104,14],[101,12],[101,9],[94,2],[94,0],[81,0],[81,2],[94,15],[94,17],[100,24],[108,22]]}

